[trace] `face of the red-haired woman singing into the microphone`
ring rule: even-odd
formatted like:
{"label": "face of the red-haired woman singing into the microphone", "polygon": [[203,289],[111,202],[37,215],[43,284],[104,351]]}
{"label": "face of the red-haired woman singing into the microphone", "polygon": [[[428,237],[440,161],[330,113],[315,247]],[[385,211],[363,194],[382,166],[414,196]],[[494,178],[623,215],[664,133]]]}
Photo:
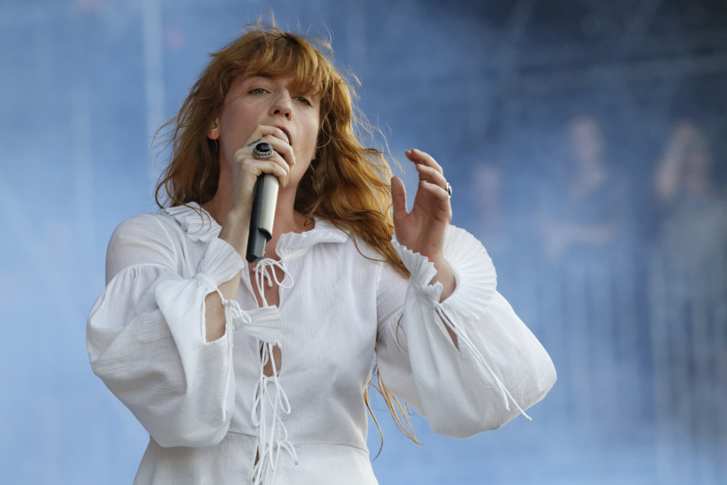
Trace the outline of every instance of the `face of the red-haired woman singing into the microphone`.
{"label": "face of the red-haired woman singing into the microphone", "polygon": [[[231,169],[233,153],[249,143],[260,125],[278,127],[289,137],[295,165],[289,186],[295,186],[316,156],[320,126],[318,95],[297,92],[293,76],[249,76],[242,74],[232,87],[208,136],[220,142],[220,169]],[[250,140],[252,141],[252,140]]]}

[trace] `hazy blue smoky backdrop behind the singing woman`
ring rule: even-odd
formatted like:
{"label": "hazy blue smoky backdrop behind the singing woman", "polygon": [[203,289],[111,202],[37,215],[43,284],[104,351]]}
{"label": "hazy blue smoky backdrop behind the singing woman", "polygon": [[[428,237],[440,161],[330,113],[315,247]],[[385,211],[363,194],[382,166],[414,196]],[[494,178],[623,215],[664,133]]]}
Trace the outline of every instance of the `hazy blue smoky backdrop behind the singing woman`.
{"label": "hazy blue smoky backdrop behind the singing woman", "polygon": [[[0,0],[2,481],[132,482],[148,435],[85,350],[105,246],[121,220],[156,210],[156,129],[209,52],[266,9],[284,28],[332,34],[410,191],[404,150],[445,167],[453,223],[485,242],[500,291],[560,376],[533,422],[467,440],[414,417],[417,446],[375,401],[379,481],[725,483],[727,7],[706,0]],[[573,170],[567,127],[582,114],[598,120],[618,175],[592,212],[559,198]],[[664,316],[673,298],[651,263],[664,241],[652,186],[679,119],[712,147],[716,202],[695,214],[717,222],[688,236],[713,241],[716,259],[699,286],[667,278],[712,295],[667,334],[678,312]],[[544,249],[548,214],[587,224],[614,199],[627,207],[617,241]],[[379,443],[371,425],[372,455]]]}

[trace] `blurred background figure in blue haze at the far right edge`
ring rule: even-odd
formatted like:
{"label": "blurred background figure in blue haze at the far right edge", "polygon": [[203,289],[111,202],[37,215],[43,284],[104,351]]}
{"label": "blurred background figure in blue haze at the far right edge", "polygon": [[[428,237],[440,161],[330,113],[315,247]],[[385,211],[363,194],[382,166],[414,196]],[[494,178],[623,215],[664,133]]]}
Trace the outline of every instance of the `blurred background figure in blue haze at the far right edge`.
{"label": "blurred background figure in blue haze at the far right edge", "polygon": [[727,199],[715,175],[709,137],[680,119],[654,170],[648,252],[654,403],[662,433],[679,436],[678,470],[725,470],[715,443],[727,432]]}

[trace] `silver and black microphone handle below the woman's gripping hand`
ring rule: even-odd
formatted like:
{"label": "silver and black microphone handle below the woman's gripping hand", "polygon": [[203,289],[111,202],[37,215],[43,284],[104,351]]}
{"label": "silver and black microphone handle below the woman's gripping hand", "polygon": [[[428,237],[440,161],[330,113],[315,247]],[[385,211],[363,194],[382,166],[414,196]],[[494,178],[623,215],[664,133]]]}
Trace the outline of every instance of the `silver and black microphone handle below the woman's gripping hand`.
{"label": "silver and black microphone handle below the woman's gripping hand", "polygon": [[261,260],[265,254],[265,243],[273,237],[273,219],[278,203],[280,181],[273,174],[257,176],[252,195],[250,231],[247,236],[248,262]]}

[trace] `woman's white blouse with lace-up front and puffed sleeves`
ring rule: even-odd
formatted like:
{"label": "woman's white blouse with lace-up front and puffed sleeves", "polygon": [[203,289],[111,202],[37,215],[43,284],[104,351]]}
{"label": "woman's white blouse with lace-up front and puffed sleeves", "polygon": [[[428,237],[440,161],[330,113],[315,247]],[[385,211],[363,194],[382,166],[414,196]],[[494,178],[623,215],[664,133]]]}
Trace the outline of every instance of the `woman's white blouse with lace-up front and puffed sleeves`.
{"label": "woman's white blouse with lace-up front and puffed sleeves", "polygon": [[[257,308],[243,271],[225,334],[206,342],[206,295],[246,263],[191,205],[119,225],[88,319],[94,372],[150,434],[134,484],[376,484],[363,397],[374,351],[387,387],[459,438],[499,428],[555,382],[485,249],[454,227],[457,287],[441,303],[434,265],[396,241],[409,280],[326,220],[284,234],[279,262],[257,273],[265,284],[270,265],[284,270],[280,308]],[[267,377],[273,345],[281,370]]]}

